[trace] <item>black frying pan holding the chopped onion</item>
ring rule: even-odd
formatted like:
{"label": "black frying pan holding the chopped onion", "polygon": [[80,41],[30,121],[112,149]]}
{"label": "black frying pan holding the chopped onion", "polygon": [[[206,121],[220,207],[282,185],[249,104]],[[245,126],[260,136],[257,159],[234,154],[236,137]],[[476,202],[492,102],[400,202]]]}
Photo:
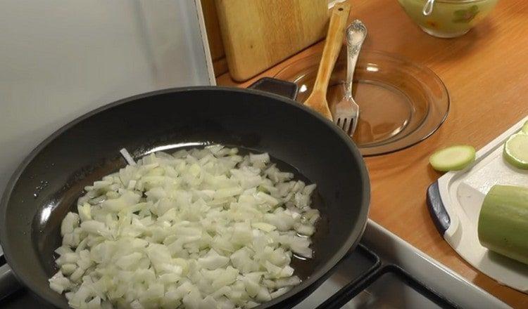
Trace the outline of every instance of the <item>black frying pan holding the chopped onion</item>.
{"label": "black frying pan holding the chopped onion", "polygon": [[[295,85],[293,85],[295,86]],[[261,80],[291,97],[290,83]],[[119,150],[141,157],[155,147],[205,142],[269,152],[318,184],[322,213],[303,282],[259,308],[287,308],[308,296],[346,252],[356,246],[367,220],[370,185],[356,146],[337,126],[294,100],[249,89],[213,86],[173,88],[126,98],[75,119],[35,148],[15,171],[0,205],[0,241],[8,265],[0,289],[13,273],[45,301],[68,308],[48,279],[56,270],[54,249],[65,214],[82,188],[125,166]],[[306,266],[306,265],[305,265]],[[11,270],[9,270],[11,267]]]}

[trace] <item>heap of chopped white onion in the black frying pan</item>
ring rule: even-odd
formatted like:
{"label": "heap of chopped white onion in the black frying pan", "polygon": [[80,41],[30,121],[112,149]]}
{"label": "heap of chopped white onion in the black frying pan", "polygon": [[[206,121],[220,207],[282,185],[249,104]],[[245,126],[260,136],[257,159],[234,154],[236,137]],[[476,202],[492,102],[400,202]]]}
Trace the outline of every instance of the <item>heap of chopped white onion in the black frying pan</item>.
{"label": "heap of chopped white onion in the black frying pan", "polygon": [[85,187],[61,224],[51,289],[73,308],[253,308],[299,284],[315,184],[270,156],[156,152]]}

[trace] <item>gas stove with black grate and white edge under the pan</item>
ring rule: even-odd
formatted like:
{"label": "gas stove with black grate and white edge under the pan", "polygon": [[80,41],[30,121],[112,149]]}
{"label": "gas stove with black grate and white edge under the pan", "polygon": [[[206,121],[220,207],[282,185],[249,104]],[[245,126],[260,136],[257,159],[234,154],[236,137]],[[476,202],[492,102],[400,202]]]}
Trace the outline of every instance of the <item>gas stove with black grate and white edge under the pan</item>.
{"label": "gas stove with black grate and white edge under the pan", "polygon": [[[4,258],[0,258],[5,263]],[[0,308],[53,308],[22,289]],[[337,270],[294,309],[510,308],[374,221]]]}

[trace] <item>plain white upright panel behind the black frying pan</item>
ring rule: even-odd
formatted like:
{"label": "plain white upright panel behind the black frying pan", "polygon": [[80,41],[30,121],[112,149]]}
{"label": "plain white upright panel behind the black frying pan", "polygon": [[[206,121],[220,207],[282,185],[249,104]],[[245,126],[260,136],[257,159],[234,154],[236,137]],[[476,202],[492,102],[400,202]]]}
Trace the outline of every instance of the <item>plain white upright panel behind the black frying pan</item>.
{"label": "plain white upright panel behind the black frying pan", "polygon": [[21,160],[89,110],[214,84],[200,1],[0,1],[0,194]]}

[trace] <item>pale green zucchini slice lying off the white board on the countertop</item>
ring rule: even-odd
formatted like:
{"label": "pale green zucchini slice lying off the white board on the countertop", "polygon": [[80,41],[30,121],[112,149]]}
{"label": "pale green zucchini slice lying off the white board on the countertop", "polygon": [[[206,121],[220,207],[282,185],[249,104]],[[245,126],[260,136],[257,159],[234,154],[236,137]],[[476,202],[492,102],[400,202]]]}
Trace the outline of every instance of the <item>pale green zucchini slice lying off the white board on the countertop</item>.
{"label": "pale green zucchini slice lying off the white board on the countertop", "polygon": [[434,152],[434,154],[429,157],[429,163],[433,166],[433,169],[436,169],[436,171],[458,171],[472,163],[474,158],[474,147],[459,145],[447,147]]}

